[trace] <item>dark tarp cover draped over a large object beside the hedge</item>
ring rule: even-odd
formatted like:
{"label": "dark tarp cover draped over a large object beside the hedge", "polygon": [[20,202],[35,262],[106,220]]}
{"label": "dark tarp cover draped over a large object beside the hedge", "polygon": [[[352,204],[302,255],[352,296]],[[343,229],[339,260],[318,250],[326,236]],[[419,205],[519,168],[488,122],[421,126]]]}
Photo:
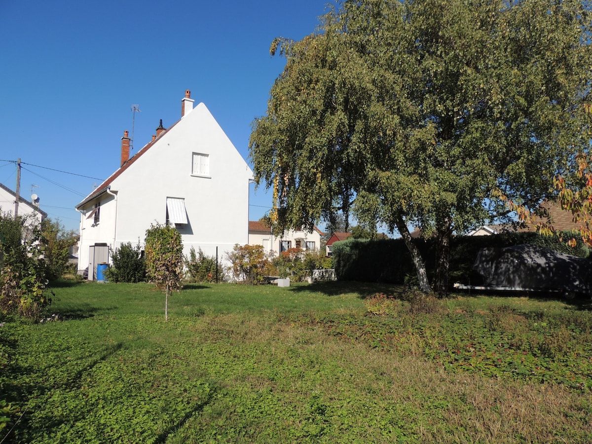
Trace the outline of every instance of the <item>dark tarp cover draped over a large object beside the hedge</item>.
{"label": "dark tarp cover draped over a large object beside the hedge", "polygon": [[592,261],[536,245],[482,248],[473,269],[487,287],[592,294]]}

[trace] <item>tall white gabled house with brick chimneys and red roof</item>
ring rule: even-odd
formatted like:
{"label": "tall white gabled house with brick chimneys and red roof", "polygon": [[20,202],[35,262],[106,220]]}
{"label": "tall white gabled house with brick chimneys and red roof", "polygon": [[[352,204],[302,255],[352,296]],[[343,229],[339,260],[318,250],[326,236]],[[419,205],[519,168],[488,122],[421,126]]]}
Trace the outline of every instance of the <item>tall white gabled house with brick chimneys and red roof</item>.
{"label": "tall white gabled house with brick chimneys and red roof", "polygon": [[76,205],[81,213],[79,272],[111,261],[123,243],[144,243],[151,224],[175,226],[184,254],[191,247],[222,258],[249,240],[249,183],[253,172],[204,104],[193,107],[189,91],[181,119],[160,125],[152,141],[130,155],[121,138],[121,165]]}

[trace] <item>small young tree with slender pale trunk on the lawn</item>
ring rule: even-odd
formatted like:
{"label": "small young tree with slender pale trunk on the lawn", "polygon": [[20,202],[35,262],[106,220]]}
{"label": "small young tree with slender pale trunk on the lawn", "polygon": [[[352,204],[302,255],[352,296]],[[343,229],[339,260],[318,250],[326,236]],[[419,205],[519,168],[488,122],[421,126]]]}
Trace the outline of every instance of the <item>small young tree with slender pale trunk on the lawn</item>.
{"label": "small young tree with slender pale trunk on the lawn", "polygon": [[179,231],[158,223],[146,230],[146,274],[150,282],[165,291],[165,319],[169,320],[169,292],[182,287],[183,244]]}

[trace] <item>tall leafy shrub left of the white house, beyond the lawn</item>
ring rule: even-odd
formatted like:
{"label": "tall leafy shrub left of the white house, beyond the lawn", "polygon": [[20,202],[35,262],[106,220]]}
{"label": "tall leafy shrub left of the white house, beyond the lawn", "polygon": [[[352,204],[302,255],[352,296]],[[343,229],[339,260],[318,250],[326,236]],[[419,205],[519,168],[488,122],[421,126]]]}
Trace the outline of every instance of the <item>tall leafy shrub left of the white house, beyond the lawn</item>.
{"label": "tall leafy shrub left of the white house, beyond the lawn", "polygon": [[47,278],[60,278],[67,271],[70,247],[78,242],[78,234],[66,230],[59,220],[45,218],[41,223],[43,236],[43,257],[47,267]]}

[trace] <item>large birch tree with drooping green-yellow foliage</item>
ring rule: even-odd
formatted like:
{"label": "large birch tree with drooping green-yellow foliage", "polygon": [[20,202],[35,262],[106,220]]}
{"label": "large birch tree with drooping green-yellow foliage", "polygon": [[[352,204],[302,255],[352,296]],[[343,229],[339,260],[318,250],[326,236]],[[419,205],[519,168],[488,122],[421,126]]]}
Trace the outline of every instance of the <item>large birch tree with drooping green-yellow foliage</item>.
{"label": "large birch tree with drooping green-yellow foliage", "polygon": [[[436,236],[441,292],[453,232],[506,212],[502,194],[536,207],[588,149],[590,32],[577,0],[365,0],[277,38],[286,65],[250,156],[279,227],[336,209],[413,223]],[[430,260],[412,257],[418,273]]]}

